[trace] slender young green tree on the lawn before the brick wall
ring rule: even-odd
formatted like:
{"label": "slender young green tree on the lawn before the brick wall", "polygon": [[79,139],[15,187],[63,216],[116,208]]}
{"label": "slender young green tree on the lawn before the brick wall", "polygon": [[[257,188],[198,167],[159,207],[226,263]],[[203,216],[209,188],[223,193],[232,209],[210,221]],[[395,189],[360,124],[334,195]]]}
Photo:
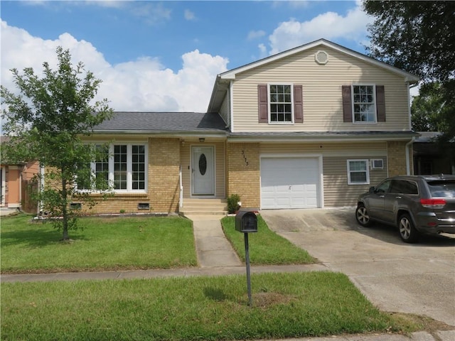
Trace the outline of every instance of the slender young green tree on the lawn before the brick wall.
{"label": "slender young green tree on the lawn before the brick wall", "polygon": [[[76,197],[91,208],[96,200],[94,190],[108,193],[109,184],[93,177],[90,162],[102,157],[99,148],[82,142],[90,136],[93,127],[112,116],[107,99],[94,102],[101,80],[82,63],[73,67],[69,50],[58,47],[57,70],[43,63],[43,77],[31,67],[21,74],[12,69],[14,83],[20,94],[0,87],[4,133],[11,140],[2,145],[2,158],[17,161],[38,160],[45,167],[44,183],[38,193],[43,210],[50,212],[53,224],[63,230],[63,239],[69,239],[68,229],[77,227],[80,210],[71,207]],[[76,180],[77,179],[77,180]],[[90,183],[87,190],[78,191],[77,183]]]}

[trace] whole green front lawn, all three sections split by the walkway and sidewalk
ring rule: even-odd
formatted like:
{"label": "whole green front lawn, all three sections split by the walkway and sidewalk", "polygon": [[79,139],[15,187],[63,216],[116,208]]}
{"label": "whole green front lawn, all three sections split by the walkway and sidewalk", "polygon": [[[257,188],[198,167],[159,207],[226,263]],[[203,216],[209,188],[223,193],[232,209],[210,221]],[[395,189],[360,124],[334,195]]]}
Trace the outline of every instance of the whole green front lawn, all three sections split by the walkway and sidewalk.
{"label": "whole green front lawn, all three sections split by the walkway and sidewalk", "polygon": [[[242,257],[232,217],[223,229]],[[1,220],[5,273],[150,269],[197,265],[193,230],[180,217],[84,218],[60,242],[50,224]],[[259,217],[252,264],[311,263],[306,251]],[[375,308],[344,274],[1,283],[2,340],[245,340],[364,332],[412,332],[420,325]]]}

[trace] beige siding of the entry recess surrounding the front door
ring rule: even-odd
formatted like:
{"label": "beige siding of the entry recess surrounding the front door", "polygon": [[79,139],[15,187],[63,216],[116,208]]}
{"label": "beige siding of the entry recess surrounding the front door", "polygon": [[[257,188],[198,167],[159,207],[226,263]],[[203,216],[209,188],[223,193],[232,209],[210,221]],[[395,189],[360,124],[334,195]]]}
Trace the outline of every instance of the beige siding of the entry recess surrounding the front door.
{"label": "beige siding of the entry recess surrounding the front door", "polygon": [[181,147],[183,197],[191,197],[191,146],[215,146],[215,197],[225,198],[225,143],[186,141]]}

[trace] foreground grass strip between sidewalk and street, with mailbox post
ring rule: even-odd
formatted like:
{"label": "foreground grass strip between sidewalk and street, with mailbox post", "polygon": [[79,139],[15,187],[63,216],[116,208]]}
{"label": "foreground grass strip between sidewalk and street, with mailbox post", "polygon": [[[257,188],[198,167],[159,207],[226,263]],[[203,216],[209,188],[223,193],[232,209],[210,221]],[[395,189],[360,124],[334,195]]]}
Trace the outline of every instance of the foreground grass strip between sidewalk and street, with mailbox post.
{"label": "foreground grass strip between sidewalk and street, with mailbox post", "polygon": [[2,340],[245,340],[410,332],[331,272],[1,283]]}

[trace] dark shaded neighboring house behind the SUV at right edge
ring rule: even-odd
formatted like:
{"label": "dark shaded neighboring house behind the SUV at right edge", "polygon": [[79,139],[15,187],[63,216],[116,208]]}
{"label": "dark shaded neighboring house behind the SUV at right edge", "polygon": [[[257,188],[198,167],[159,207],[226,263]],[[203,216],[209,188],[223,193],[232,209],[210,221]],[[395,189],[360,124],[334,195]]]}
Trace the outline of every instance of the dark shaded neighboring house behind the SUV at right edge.
{"label": "dark shaded neighboring house behind the SUV at right edge", "polygon": [[[455,174],[455,143],[439,144],[435,131],[419,132],[414,141],[414,174]],[[452,152],[451,152],[452,151]]]}

